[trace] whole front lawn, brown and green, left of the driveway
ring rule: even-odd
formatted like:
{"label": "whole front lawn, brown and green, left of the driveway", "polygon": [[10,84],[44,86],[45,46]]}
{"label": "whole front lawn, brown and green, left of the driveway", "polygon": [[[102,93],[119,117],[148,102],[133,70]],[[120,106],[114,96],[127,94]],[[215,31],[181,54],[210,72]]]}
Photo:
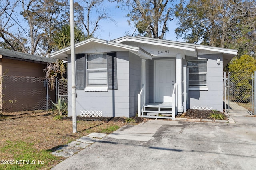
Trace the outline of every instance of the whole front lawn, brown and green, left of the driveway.
{"label": "whole front lawn, brown and green, left of the driveway", "polygon": [[[50,169],[61,160],[53,156],[54,149],[92,132],[112,133],[125,122],[77,121],[77,133],[72,133],[72,121],[53,120],[50,112],[24,111],[0,115],[0,158],[15,164],[0,164],[1,170]],[[27,161],[18,164],[16,161]],[[38,161],[40,164],[38,164]],[[44,164],[42,164],[44,162]]]}

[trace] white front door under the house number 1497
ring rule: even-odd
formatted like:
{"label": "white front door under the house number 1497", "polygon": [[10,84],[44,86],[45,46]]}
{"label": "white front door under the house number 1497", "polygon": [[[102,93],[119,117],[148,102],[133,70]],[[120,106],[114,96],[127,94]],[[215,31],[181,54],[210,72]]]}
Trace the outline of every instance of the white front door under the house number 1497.
{"label": "white front door under the house number 1497", "polygon": [[172,102],[175,83],[175,60],[155,61],[155,102]]}

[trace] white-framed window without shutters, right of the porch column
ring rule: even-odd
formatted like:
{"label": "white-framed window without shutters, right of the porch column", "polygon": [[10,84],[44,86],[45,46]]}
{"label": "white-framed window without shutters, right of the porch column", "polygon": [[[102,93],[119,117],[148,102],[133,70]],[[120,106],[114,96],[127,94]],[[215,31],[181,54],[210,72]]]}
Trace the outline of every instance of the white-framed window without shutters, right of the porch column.
{"label": "white-framed window without shutters, right of the porch column", "polygon": [[[193,67],[193,66],[188,66],[188,62],[198,62],[198,61],[206,61],[206,72],[199,72],[198,73],[190,73],[189,72],[189,68]],[[199,67],[199,66],[197,66]],[[188,90],[208,90],[208,59],[196,59],[196,60],[187,60],[186,61],[186,68],[188,69],[188,75],[187,75],[187,82],[188,82]],[[189,77],[192,74],[197,74],[197,75],[202,75],[202,74],[206,74],[206,85],[205,86],[200,86],[200,84],[198,86],[190,86],[190,80]],[[200,79],[198,79],[198,81],[200,81]],[[204,85],[204,84],[203,84]]]}

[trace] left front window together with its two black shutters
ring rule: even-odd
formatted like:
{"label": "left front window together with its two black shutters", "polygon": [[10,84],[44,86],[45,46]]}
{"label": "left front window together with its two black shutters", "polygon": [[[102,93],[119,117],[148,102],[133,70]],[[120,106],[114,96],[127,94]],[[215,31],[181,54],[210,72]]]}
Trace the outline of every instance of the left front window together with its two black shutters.
{"label": "left front window together with its two black shutters", "polygon": [[[76,88],[117,90],[116,52],[76,55]],[[95,89],[94,89],[95,88]]]}

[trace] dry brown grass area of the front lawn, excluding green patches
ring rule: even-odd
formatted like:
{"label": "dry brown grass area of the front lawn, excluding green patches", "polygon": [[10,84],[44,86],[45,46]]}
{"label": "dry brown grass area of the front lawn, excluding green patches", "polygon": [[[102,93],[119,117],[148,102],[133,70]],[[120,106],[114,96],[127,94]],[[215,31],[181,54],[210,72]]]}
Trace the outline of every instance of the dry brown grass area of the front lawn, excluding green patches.
{"label": "dry brown grass area of the front lawn, excluding green patches", "polygon": [[[134,119],[136,123],[144,121],[142,117],[134,117]],[[6,146],[16,145],[21,141],[36,149],[37,154],[41,154],[42,150],[53,151],[92,132],[101,133],[112,126],[122,127],[126,124],[124,117],[77,117],[77,133],[73,133],[72,117],[56,121],[53,120],[51,113],[46,111],[1,113],[0,158],[14,160],[13,153],[2,150],[6,149]],[[19,152],[17,150],[15,154],[20,154]],[[48,161],[45,166],[52,167],[61,159],[65,158],[58,157],[55,161]]]}

